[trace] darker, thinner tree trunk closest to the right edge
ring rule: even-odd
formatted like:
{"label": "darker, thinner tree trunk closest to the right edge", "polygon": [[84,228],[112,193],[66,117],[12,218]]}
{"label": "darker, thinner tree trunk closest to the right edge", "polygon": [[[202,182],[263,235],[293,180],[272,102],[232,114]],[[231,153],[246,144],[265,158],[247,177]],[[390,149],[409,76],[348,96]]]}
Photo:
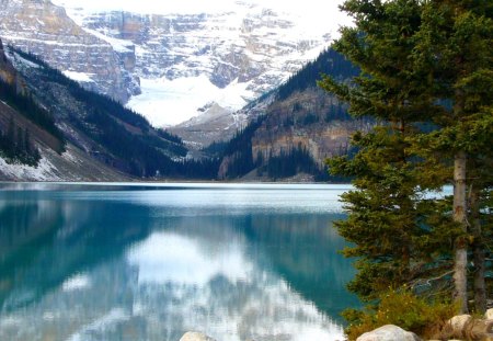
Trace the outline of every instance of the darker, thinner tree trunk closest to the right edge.
{"label": "darker, thinner tree trunk closest to the right edge", "polygon": [[474,263],[474,308],[475,312],[486,311],[486,284],[485,274],[485,249],[481,231],[480,217],[480,193],[477,187],[470,194],[470,220],[471,232],[474,237],[472,243],[472,260]]}

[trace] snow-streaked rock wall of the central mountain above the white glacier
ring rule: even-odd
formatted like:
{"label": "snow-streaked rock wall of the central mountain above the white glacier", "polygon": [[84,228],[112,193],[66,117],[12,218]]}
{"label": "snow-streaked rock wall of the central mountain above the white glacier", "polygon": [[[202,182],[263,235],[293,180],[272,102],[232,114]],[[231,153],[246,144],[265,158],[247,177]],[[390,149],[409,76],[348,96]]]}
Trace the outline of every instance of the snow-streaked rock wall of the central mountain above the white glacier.
{"label": "snow-streaked rock wall of the central mountain above the white glacier", "polygon": [[[77,11],[72,14],[78,18]],[[234,80],[254,95],[278,84],[324,46],[328,35],[295,37],[295,22],[274,11],[144,15],[128,12],[79,15],[82,27],[135,46],[135,72],[169,80],[206,75],[217,88]],[[127,47],[131,44],[121,42]],[[204,103],[205,104],[205,103]]]}

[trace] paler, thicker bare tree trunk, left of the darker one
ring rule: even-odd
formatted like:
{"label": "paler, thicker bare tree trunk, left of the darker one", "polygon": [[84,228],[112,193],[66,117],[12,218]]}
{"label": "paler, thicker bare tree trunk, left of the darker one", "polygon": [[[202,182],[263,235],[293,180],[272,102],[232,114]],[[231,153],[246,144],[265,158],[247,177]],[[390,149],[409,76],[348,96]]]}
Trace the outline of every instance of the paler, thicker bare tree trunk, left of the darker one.
{"label": "paler, thicker bare tree trunk, left of the darker one", "polygon": [[[468,225],[466,219],[467,197],[466,197],[466,162],[465,151],[456,155],[454,163],[454,221],[458,223],[462,231],[467,234]],[[460,237],[456,240],[456,255],[454,266],[454,299],[460,305],[460,312],[468,312],[468,241]]]}

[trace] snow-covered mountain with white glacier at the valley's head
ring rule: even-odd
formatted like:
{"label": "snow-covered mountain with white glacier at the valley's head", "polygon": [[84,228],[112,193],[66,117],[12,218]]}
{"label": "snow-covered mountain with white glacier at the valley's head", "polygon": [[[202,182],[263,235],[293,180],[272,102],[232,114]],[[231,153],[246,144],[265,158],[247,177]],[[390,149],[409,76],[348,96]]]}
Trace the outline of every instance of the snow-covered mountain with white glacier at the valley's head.
{"label": "snow-covered mountain with white glacier at the valley's head", "polygon": [[142,94],[128,105],[156,125],[197,116],[213,102],[240,109],[314,59],[339,24],[328,13],[318,21],[275,1],[222,1],[208,8],[197,8],[197,1],[193,8],[55,2],[115,49],[135,50]]}

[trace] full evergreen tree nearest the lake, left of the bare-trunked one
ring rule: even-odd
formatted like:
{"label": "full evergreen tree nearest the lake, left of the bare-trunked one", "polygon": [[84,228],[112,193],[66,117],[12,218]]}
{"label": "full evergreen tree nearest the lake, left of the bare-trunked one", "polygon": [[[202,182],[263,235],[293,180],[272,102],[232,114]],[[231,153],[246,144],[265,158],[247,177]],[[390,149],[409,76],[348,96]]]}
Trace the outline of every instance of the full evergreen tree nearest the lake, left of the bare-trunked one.
{"label": "full evergreen tree nearest the lake, left of the bare-trunked one", "polygon": [[343,8],[356,27],[344,29],[334,47],[363,73],[353,86],[329,77],[320,84],[347,101],[352,115],[378,122],[371,133],[353,137],[356,156],[329,162],[333,173],[355,178],[356,190],[343,195],[349,216],[336,224],[355,245],[344,253],[359,258],[349,288],[375,299],[389,287],[437,273],[446,276],[451,266],[448,246],[457,230],[442,215],[444,203],[426,200],[426,191],[442,186],[446,169],[426,168],[428,160],[413,149],[422,123],[437,110],[423,91],[421,70],[410,62],[422,4],[349,0]]}

